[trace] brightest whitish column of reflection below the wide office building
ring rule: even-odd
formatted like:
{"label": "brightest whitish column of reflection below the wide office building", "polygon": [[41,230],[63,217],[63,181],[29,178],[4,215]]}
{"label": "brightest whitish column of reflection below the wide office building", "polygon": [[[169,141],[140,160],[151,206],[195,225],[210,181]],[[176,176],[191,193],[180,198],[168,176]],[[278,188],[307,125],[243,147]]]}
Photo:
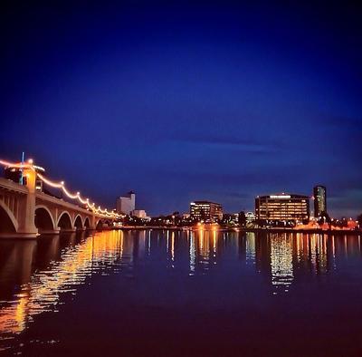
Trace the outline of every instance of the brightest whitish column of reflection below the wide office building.
{"label": "brightest whitish column of reflection below the wide office building", "polygon": [[271,285],[282,286],[288,291],[293,281],[291,236],[271,236]]}

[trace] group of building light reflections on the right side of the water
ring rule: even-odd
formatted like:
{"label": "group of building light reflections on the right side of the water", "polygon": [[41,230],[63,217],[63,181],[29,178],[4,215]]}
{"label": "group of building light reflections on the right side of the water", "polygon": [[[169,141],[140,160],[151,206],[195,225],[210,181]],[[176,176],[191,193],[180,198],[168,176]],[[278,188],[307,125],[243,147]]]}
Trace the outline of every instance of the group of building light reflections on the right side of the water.
{"label": "group of building light reflections on the right side of the water", "polygon": [[239,236],[238,245],[242,259],[252,261],[254,257],[257,271],[272,286],[282,285],[286,290],[298,276],[328,274],[336,269],[338,260],[362,252],[360,236],[259,232]]}

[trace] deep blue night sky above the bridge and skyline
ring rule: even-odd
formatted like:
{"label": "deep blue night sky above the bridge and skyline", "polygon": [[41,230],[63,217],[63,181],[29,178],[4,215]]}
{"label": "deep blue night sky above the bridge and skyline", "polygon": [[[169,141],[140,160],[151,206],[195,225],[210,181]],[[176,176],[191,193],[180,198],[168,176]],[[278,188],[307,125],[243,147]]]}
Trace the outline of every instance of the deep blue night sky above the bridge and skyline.
{"label": "deep blue night sky above the bridge and skyline", "polygon": [[361,8],[27,3],[1,12],[1,158],[152,215],[317,183],[362,212]]}

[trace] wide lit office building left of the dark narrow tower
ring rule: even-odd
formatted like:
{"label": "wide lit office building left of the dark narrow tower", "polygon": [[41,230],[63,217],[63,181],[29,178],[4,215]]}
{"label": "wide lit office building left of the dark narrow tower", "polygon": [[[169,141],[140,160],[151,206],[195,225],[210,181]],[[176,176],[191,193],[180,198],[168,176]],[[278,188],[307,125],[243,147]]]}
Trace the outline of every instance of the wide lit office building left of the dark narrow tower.
{"label": "wide lit office building left of the dark narrow tower", "polygon": [[303,221],[310,219],[310,198],[303,195],[279,194],[257,196],[255,216],[266,221]]}

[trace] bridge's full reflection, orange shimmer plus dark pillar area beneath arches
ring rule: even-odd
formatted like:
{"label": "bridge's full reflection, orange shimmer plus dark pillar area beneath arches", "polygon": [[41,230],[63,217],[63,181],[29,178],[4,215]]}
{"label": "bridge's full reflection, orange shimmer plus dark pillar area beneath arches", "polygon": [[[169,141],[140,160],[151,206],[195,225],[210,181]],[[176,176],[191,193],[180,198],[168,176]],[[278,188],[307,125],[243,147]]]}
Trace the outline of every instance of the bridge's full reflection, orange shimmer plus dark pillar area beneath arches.
{"label": "bridge's full reflection, orange shimmer plus dark pillar area beneath arches", "polygon": [[[6,246],[0,256],[5,260],[5,265],[0,261],[0,281],[5,281],[6,286],[13,283],[21,288],[14,297],[11,296],[13,289],[2,289],[0,300],[14,301],[0,310],[0,331],[22,332],[35,315],[54,311],[60,294],[75,292],[78,285],[84,284],[87,276],[122,258],[122,232],[107,231],[102,235],[102,239],[90,236],[85,240],[84,236],[76,236],[75,233],[49,236],[40,246],[34,240],[2,242],[2,247]],[[61,260],[57,260],[61,239],[65,249],[62,250]],[[37,251],[39,248],[41,251]],[[43,269],[37,266],[33,272],[35,263],[43,265]]]}

